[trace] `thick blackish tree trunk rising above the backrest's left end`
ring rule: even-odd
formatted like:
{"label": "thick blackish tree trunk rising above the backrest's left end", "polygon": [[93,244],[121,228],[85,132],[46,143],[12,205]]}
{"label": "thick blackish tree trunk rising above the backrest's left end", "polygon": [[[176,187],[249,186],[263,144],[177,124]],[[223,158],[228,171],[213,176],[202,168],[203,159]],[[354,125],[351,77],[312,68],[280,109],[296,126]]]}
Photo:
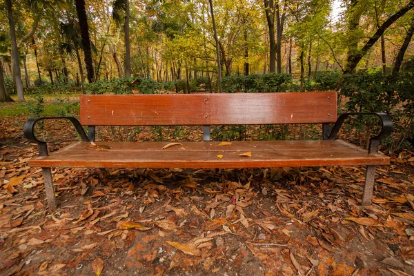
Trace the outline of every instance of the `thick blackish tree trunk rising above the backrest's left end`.
{"label": "thick blackish tree trunk rising above the backrest's left end", "polygon": [[[8,0],[10,1],[10,0]],[[79,19],[79,27],[81,28],[82,48],[86,64],[86,73],[88,81],[92,83],[95,79],[92,63],[92,51],[90,50],[90,38],[88,28],[88,18],[86,17],[85,0],[75,0],[76,11]]]}

